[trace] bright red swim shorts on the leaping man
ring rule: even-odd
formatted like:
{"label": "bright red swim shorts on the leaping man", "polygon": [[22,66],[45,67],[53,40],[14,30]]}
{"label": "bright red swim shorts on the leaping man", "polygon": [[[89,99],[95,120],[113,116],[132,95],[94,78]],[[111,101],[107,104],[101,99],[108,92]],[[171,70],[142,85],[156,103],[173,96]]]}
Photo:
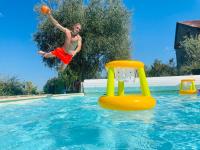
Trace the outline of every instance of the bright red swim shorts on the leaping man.
{"label": "bright red swim shorts on the leaping man", "polygon": [[72,60],[72,55],[66,53],[62,47],[54,49],[51,53],[59,58],[64,64],[69,64]]}

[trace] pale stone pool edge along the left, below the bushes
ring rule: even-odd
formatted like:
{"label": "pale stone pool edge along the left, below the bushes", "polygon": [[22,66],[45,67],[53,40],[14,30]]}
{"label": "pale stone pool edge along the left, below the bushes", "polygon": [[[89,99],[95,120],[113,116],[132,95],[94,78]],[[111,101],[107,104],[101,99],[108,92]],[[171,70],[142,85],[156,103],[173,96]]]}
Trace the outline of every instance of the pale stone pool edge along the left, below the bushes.
{"label": "pale stone pool edge along the left, below the bushes", "polygon": [[71,96],[84,96],[84,93],[0,96],[0,103],[42,99],[42,98],[47,98],[47,97],[51,97],[51,98],[63,97],[64,98],[64,97],[71,97]]}

